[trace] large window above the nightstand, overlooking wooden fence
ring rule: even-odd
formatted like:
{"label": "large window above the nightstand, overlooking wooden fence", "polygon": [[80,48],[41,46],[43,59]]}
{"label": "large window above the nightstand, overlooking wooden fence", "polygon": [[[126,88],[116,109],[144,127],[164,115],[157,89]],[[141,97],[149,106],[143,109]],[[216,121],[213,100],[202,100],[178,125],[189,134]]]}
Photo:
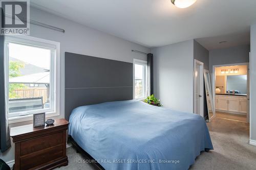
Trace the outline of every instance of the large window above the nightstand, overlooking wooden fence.
{"label": "large window above the nightstand, overlooking wooden fence", "polygon": [[5,38],[8,117],[58,115],[59,43],[29,36]]}

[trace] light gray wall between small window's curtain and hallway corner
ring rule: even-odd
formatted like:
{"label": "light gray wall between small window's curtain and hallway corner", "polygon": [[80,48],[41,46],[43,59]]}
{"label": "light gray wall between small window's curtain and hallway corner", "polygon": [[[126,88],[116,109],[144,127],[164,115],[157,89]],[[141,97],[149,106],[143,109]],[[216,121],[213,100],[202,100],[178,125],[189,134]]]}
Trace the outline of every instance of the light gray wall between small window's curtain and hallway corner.
{"label": "light gray wall between small window's curtain and hallway corner", "polygon": [[194,40],[152,49],[154,93],[164,105],[193,112]]}

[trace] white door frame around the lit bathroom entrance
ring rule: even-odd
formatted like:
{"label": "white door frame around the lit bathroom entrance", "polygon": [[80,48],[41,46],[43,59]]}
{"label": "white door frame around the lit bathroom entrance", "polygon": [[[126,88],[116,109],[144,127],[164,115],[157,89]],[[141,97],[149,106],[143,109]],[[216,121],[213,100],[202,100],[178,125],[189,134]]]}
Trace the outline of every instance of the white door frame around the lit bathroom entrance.
{"label": "white door frame around the lit bathroom entrance", "polygon": [[[233,64],[221,64],[221,65],[212,65],[212,77],[211,77],[211,82],[212,82],[212,98],[214,98],[214,100],[212,100],[214,102],[214,108],[215,108],[215,68],[216,67],[222,67],[222,66],[233,66],[233,65],[247,65],[247,71],[248,71],[248,68],[250,68],[250,63],[233,63]],[[248,74],[248,73],[247,73]],[[249,71],[249,79],[250,79],[250,71]],[[248,84],[248,80],[247,80],[247,84]],[[250,80],[249,80],[249,89],[250,89]],[[248,89],[247,89],[248,91]],[[250,90],[249,90],[250,91]],[[250,94],[247,94],[247,99],[250,98],[249,96]],[[249,100],[250,102],[250,100]],[[250,104],[249,104],[250,105]],[[248,110],[248,113],[247,113],[247,122],[249,123],[250,122],[250,109]]]}

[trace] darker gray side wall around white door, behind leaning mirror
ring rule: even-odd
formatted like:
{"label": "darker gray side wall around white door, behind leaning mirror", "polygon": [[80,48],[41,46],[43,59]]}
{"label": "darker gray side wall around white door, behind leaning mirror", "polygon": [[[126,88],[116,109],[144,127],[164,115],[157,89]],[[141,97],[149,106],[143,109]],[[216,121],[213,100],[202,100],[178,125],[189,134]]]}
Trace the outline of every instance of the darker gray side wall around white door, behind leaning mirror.
{"label": "darker gray side wall around white door, behind leaning mirror", "polygon": [[[194,40],[194,59],[204,63],[204,69],[209,70],[209,51]],[[208,115],[206,94],[204,89],[204,117]]]}

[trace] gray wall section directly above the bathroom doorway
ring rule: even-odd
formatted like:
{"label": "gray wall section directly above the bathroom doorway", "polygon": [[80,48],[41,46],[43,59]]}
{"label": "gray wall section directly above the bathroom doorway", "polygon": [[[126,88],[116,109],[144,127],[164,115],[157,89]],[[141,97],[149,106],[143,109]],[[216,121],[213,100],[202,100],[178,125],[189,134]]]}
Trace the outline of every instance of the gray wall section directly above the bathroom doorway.
{"label": "gray wall section directly above the bathroom doorway", "polygon": [[240,45],[209,51],[209,71],[213,65],[249,62],[250,45]]}

